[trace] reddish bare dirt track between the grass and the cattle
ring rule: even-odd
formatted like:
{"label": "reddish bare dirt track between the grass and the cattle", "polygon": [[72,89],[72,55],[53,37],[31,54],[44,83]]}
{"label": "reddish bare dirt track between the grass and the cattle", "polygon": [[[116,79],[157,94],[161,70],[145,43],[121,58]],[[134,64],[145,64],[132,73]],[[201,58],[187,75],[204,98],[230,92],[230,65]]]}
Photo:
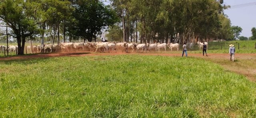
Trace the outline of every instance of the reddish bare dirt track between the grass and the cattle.
{"label": "reddish bare dirt track between the grass and the cattle", "polygon": [[[62,53],[53,53],[53,54],[34,54],[34,55],[24,55],[24,56],[12,56],[12,57],[1,57],[0,61],[3,60],[28,60],[32,58],[50,58],[50,57],[62,57],[62,56],[108,56],[108,55],[123,55],[123,54],[139,54],[139,55],[155,55],[155,56],[181,56],[181,54],[172,54],[172,53],[97,53],[97,52],[62,52]],[[212,60],[212,62],[218,63],[227,70],[236,72],[238,74],[243,74],[250,81],[256,82],[256,68],[247,68],[247,66],[241,67],[238,64],[226,63],[229,61],[229,54],[208,54],[208,56],[202,56],[202,54],[188,54],[188,56],[200,57]],[[255,60],[256,54],[236,54],[236,59],[245,59],[245,60]],[[220,61],[216,61],[220,60]],[[222,61],[222,62],[221,62]],[[224,62],[223,62],[224,61]],[[231,62],[236,63],[236,62]],[[250,65],[249,65],[250,66]]]}

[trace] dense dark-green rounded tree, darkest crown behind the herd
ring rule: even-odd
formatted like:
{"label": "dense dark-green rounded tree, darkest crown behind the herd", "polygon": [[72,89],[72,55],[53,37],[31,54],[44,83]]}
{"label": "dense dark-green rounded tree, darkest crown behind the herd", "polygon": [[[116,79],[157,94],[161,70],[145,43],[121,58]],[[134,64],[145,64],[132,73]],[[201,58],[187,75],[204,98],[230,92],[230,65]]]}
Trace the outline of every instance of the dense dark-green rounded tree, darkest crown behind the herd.
{"label": "dense dark-green rounded tree, darkest crown behind the herd", "polygon": [[69,31],[84,40],[96,39],[102,29],[119,21],[114,10],[99,0],[77,0],[72,6],[75,8],[72,13],[74,26]]}

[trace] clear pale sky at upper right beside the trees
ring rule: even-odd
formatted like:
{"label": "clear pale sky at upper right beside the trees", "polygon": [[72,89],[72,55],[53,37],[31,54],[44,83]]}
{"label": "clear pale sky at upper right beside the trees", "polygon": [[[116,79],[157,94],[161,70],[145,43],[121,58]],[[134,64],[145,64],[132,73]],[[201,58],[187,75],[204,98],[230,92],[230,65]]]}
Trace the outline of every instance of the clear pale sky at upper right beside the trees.
{"label": "clear pale sky at upper right beside the trees", "polygon": [[231,7],[227,10],[224,10],[224,14],[228,15],[228,18],[231,20],[232,26],[240,26],[243,30],[240,36],[250,37],[252,36],[252,28],[256,27],[256,4],[246,4],[256,2],[256,0],[224,0],[224,4]]}

